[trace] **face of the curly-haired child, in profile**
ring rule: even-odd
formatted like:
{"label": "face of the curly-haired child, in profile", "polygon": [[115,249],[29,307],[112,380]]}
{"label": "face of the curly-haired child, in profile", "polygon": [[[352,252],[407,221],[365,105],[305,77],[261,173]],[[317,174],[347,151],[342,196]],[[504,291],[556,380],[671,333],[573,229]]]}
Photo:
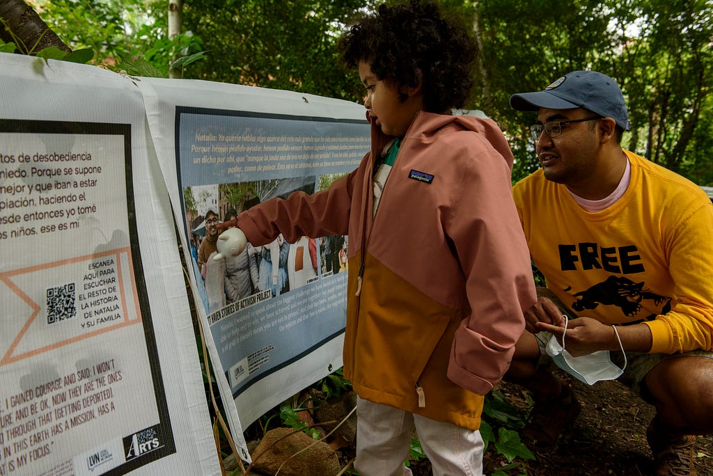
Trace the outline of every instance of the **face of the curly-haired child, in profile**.
{"label": "face of the curly-haired child, in profile", "polygon": [[408,95],[402,103],[399,90],[391,83],[376,78],[365,61],[359,62],[359,77],[366,88],[364,107],[369,110],[369,115],[381,128],[381,132],[394,137],[406,134],[411,121],[423,108],[421,88],[402,87],[401,91]]}

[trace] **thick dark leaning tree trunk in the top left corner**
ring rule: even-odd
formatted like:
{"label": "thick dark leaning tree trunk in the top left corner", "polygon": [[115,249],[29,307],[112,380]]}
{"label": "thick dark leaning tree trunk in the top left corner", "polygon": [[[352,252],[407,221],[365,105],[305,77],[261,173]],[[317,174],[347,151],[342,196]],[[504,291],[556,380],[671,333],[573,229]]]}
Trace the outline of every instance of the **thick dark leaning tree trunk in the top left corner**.
{"label": "thick dark leaning tree trunk in the top left corner", "polygon": [[14,42],[16,51],[26,55],[48,46],[56,46],[68,53],[72,51],[22,0],[0,0],[0,39],[6,43]]}

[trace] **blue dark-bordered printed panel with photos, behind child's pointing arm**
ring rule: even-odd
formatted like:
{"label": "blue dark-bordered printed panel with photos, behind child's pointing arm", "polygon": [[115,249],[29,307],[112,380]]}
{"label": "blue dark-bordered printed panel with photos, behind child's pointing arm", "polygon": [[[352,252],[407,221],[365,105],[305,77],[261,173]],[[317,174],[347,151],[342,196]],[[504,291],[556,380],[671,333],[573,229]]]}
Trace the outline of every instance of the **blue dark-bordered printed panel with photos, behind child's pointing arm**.
{"label": "blue dark-bordered printed panel with photos, behind child's pointing arm", "polygon": [[[365,120],[176,110],[191,265],[222,371],[238,398],[343,335],[348,243],[342,236],[290,243],[280,235],[262,247],[248,244],[237,257],[214,259],[217,225],[265,200],[326,189],[369,150],[369,128]],[[249,424],[258,416],[240,418]]]}

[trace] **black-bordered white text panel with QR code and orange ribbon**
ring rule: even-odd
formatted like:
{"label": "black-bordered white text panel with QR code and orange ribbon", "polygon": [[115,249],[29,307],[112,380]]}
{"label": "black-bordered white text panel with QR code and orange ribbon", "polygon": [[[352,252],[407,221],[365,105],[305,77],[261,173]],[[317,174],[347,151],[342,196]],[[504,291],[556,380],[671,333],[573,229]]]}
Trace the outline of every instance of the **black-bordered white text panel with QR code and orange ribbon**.
{"label": "black-bordered white text panel with QR code and orange ribbon", "polygon": [[0,120],[0,475],[125,474],[176,451],[130,131]]}

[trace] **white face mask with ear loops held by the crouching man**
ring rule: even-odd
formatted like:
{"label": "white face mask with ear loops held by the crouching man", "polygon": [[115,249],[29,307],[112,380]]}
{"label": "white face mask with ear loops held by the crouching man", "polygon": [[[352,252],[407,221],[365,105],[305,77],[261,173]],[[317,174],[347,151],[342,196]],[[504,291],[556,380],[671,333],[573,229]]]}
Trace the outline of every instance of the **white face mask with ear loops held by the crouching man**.
{"label": "white face mask with ear loops held by the crouching man", "polygon": [[573,357],[568,351],[565,351],[565,335],[567,334],[569,319],[567,316],[564,317],[565,331],[562,334],[562,345],[560,346],[557,338],[552,336],[547,343],[547,347],[545,347],[545,352],[552,357],[552,360],[555,361],[559,368],[588,385],[594,385],[598,381],[614,380],[624,373],[624,368],[626,368],[627,364],[626,353],[616,326],[612,327],[619,340],[622,353],[624,353],[624,368],[619,368],[612,363],[609,358],[609,351],[596,351],[579,357]]}

